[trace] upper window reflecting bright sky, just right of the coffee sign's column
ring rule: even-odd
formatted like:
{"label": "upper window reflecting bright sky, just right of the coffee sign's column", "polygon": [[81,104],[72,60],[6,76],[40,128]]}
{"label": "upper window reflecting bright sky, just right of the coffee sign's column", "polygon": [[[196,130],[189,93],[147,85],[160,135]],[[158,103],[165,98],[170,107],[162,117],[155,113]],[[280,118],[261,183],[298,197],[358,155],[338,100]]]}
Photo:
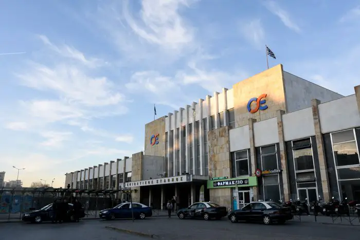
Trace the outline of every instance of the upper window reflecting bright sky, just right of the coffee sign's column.
{"label": "upper window reflecting bright sky, just right of the coffee sign's column", "polygon": [[314,170],[310,138],[293,141],[295,171]]}

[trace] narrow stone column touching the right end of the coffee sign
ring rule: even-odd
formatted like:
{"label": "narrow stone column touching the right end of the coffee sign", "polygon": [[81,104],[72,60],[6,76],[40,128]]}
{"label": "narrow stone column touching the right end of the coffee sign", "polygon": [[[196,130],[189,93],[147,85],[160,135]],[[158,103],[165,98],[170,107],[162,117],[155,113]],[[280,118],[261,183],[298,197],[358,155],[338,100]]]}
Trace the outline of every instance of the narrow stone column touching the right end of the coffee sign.
{"label": "narrow stone column touching the right end of the coffee sign", "polygon": [[282,115],[285,114],[284,110],[277,110],[276,116],[278,121],[278,134],[279,134],[279,146],[280,146],[280,161],[282,169],[282,182],[284,186],[284,196],[282,201],[290,200],[290,181],[289,181],[289,170],[287,168],[287,156],[286,156],[286,145],[284,140],[284,128],[282,123]]}

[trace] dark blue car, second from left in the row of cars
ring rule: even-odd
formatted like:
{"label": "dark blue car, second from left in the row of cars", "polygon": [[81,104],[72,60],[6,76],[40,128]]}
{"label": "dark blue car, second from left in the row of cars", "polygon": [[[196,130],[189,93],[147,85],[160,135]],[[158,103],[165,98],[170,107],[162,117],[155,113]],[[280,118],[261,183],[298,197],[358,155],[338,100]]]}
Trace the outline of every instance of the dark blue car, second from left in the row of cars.
{"label": "dark blue car, second from left in the row of cars", "polygon": [[144,219],[152,216],[152,209],[146,205],[139,204],[138,202],[124,202],[118,206],[110,209],[104,209],[99,212],[102,219],[114,220],[116,218],[131,218],[132,211],[134,218]]}

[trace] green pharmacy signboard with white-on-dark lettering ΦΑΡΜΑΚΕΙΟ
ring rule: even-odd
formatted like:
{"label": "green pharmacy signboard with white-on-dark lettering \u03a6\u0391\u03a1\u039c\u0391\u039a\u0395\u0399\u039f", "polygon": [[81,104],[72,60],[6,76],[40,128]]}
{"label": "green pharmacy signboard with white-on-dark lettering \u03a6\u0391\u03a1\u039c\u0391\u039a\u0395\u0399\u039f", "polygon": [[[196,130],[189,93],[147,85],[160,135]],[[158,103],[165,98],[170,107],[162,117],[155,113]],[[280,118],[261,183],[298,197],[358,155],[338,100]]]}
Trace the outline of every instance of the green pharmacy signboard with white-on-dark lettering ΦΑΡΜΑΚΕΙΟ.
{"label": "green pharmacy signboard with white-on-dark lettering \u03a6\u0391\u03a1\u039c\u0391\u039a\u0395\u0399\u039f", "polygon": [[238,184],[239,188],[257,186],[258,180],[256,177],[236,177],[224,180],[208,180],[207,188],[235,188],[236,184]]}

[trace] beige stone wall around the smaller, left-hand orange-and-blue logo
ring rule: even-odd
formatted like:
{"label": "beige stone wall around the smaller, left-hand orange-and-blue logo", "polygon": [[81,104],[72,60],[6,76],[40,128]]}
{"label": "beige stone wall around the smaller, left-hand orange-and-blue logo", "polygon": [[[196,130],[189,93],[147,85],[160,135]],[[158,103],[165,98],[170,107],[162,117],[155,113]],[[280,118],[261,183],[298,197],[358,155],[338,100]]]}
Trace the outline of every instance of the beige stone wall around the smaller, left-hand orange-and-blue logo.
{"label": "beige stone wall around the smaller, left-hand orange-and-blue logo", "polygon": [[[145,155],[165,156],[165,119],[161,117],[145,125]],[[159,134],[159,143],[151,145],[152,135]]]}

